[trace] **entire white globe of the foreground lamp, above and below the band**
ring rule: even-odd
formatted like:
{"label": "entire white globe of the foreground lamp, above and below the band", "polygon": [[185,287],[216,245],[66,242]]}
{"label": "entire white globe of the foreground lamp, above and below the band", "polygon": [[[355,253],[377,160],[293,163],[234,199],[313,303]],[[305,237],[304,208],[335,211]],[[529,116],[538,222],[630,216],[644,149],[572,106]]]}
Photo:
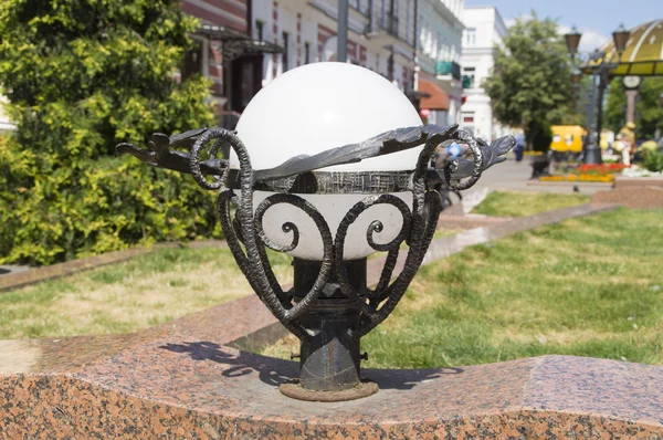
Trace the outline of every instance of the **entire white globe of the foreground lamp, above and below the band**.
{"label": "entire white globe of the foreground lamp, above and below the band", "polygon": [[[330,148],[359,143],[394,128],[421,125],[410,101],[396,85],[367,69],[346,63],[315,63],[294,69],[271,82],[249,103],[236,130],[249,151],[254,170],[276,167],[293,156],[315,155]],[[413,170],[421,147],[391,155],[339,165],[322,171],[403,171]],[[230,167],[239,168],[234,151]],[[272,192],[256,191],[254,209]],[[410,208],[411,192],[396,193]],[[345,214],[365,195],[299,195],[324,216],[333,237]],[[375,250],[366,231],[373,220],[383,224],[375,234],[378,243],[393,240],[401,227],[401,213],[392,206],[372,207],[348,229],[344,260],[368,256]],[[292,232],[283,232],[284,222],[299,231],[299,244],[288,254],[304,260],[323,260],[320,232],[299,209],[281,203],[263,218],[265,234],[277,244],[288,244]]]}

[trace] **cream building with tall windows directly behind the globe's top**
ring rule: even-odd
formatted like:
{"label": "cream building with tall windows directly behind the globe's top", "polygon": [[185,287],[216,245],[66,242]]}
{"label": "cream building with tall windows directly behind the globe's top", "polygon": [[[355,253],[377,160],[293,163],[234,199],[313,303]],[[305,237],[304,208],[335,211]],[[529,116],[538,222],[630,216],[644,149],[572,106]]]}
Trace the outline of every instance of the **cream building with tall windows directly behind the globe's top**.
{"label": "cream building with tall windows directly behind the globe's top", "polygon": [[[274,42],[284,54],[265,55],[263,82],[296,66],[337,59],[335,0],[252,0],[254,38]],[[349,0],[347,60],[414,90],[414,2]]]}

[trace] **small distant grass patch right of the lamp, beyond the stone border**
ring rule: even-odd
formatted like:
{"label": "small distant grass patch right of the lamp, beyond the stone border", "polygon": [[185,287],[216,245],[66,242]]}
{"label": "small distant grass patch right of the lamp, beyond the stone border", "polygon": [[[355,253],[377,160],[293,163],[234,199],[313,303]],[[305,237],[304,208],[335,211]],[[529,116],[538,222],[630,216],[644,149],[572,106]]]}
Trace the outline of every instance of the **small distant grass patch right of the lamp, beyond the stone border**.
{"label": "small distant grass patch right of the lamp, beyond the stone border", "polygon": [[559,208],[589,203],[589,196],[552,192],[493,191],[472,213],[497,217],[527,217]]}

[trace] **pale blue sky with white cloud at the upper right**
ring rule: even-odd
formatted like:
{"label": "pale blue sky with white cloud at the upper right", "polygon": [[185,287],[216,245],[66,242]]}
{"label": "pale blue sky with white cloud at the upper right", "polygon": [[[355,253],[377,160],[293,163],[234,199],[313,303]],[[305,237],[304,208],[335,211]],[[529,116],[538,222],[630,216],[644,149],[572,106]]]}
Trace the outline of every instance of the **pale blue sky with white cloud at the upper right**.
{"label": "pale blue sky with white cloud at the upper right", "polygon": [[507,25],[535,10],[539,18],[558,19],[560,31],[575,24],[582,32],[581,51],[593,51],[612,38],[620,23],[631,29],[663,19],[663,0],[465,0],[465,7],[494,6]]}

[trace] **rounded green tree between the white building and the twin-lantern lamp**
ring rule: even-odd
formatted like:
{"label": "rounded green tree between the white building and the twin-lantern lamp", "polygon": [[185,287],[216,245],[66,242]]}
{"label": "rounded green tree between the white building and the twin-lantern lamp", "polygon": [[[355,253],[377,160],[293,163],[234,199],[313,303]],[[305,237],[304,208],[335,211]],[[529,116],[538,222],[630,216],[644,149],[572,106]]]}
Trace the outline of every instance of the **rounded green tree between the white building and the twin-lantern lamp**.
{"label": "rounded green tree between the white building and the twin-lantern lamp", "polygon": [[517,19],[501,45],[495,65],[483,84],[495,117],[523,126],[528,144],[547,149],[550,125],[577,123],[572,111],[571,66],[557,23],[546,18]]}

